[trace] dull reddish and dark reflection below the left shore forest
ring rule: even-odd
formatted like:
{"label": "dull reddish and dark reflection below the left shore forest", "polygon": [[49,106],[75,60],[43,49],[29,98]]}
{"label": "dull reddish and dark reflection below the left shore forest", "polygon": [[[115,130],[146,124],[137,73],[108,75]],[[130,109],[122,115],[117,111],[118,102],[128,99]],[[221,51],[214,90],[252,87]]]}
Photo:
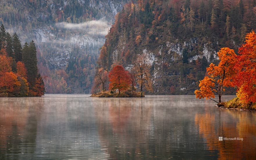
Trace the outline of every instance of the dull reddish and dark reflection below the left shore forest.
{"label": "dull reddish and dark reflection below the left shore forest", "polygon": [[4,98],[0,107],[0,159],[33,158],[37,120],[44,101],[32,98]]}

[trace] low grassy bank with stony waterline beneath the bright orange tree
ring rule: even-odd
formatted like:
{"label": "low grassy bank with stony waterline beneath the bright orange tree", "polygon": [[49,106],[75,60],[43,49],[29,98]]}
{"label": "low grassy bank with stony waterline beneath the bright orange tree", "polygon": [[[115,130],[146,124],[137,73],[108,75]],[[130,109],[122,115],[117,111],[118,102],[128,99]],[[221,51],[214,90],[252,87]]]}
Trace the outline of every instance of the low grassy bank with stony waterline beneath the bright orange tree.
{"label": "low grassy bank with stony waterline beneath the bright orange tree", "polygon": [[235,97],[227,102],[220,102],[216,104],[216,107],[225,108],[225,109],[240,109],[248,111],[256,111],[256,102],[244,104],[240,101],[238,97]]}

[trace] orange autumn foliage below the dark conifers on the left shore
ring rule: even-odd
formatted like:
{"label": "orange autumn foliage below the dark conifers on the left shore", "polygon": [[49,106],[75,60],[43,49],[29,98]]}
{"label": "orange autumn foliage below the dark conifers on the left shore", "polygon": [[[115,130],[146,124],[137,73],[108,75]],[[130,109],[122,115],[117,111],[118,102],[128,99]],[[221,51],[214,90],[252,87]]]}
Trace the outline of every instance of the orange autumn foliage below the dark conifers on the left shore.
{"label": "orange autumn foliage below the dark conifers on the left shore", "polygon": [[[27,81],[27,69],[23,62],[16,63],[16,72],[12,71],[15,60],[8,57],[5,49],[0,53],[0,97],[42,96],[45,93],[44,82],[40,74],[35,83]],[[30,86],[30,89],[29,89]]]}

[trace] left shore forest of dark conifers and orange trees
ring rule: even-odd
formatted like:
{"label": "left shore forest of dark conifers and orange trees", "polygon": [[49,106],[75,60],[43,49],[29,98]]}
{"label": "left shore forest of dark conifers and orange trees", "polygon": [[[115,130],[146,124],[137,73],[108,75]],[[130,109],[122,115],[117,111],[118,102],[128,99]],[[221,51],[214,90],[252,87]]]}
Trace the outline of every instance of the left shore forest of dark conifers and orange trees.
{"label": "left shore forest of dark conifers and orange trees", "polygon": [[0,97],[42,96],[45,85],[38,73],[33,40],[22,48],[16,33],[0,28]]}

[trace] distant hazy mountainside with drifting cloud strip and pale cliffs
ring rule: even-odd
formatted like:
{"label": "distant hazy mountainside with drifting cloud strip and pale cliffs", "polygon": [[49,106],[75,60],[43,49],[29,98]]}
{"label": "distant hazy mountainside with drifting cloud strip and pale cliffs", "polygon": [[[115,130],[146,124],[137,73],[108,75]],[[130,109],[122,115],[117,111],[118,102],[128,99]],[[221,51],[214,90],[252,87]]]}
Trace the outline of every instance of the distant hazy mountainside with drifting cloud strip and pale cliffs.
{"label": "distant hazy mountainside with drifting cloud strip and pale cliffs", "polygon": [[129,0],[1,0],[0,24],[37,46],[47,93],[90,93],[99,48]]}

